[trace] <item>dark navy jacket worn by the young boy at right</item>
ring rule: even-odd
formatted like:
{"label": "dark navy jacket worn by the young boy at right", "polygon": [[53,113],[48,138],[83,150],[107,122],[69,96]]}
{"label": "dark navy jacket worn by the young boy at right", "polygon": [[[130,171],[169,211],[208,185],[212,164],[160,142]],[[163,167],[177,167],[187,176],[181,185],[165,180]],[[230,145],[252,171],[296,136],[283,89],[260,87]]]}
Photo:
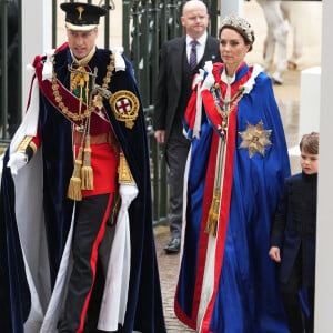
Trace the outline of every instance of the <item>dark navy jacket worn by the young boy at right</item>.
{"label": "dark navy jacket worn by the young boy at right", "polygon": [[316,184],[317,174],[299,173],[285,181],[271,234],[271,245],[281,250],[283,283],[287,282],[300,254],[303,286],[314,285]]}

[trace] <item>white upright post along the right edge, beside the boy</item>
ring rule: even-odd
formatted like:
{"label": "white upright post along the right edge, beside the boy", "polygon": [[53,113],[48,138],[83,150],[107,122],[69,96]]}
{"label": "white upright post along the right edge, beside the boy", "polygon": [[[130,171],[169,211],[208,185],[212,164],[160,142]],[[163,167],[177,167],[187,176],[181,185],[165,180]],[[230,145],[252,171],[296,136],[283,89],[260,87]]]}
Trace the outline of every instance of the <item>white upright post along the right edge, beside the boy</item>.
{"label": "white upright post along the right edge, beside the boy", "polygon": [[333,1],[323,0],[320,165],[316,229],[315,333],[332,332],[333,310]]}

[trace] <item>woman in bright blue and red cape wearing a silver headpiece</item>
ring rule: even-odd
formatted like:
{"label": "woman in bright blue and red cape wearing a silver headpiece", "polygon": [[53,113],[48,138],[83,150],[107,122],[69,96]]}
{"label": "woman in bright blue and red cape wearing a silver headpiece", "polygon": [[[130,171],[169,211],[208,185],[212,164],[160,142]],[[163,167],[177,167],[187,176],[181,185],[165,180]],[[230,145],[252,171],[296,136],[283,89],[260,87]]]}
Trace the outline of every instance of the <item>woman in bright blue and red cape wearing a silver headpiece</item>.
{"label": "woman in bright blue and red cape wearing a silver headpiece", "polygon": [[290,174],[282,121],[270,78],[244,62],[250,24],[230,16],[219,37],[224,63],[194,79],[184,121],[192,144],[175,313],[198,332],[286,333],[268,255]]}

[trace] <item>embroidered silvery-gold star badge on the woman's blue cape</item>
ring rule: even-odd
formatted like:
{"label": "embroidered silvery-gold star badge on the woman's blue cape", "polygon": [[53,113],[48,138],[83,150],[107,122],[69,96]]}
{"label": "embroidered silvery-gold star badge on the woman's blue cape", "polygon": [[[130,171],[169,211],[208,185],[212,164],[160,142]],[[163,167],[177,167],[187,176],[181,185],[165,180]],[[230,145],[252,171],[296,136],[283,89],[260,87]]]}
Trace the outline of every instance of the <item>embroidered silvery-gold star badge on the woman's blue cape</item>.
{"label": "embroidered silvery-gold star badge on the woman's blue cape", "polygon": [[245,131],[239,132],[239,134],[243,139],[239,148],[248,148],[250,159],[256,152],[261,153],[264,157],[265,148],[272,144],[272,142],[269,139],[272,130],[263,129],[262,120],[256,125],[252,125],[248,122]]}

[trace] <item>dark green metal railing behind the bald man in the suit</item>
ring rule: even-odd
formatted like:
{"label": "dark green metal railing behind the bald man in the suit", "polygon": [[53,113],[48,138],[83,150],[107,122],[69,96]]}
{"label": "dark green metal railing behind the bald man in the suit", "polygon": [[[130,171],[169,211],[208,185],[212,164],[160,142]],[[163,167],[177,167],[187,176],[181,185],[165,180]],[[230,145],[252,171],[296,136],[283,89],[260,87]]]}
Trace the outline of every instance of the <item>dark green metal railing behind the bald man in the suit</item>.
{"label": "dark green metal railing behind the bald man in the suit", "polygon": [[[153,220],[154,224],[168,220],[169,192],[163,147],[153,137],[153,97],[159,73],[159,53],[164,41],[184,33],[181,11],[184,0],[125,0],[123,6],[123,48],[132,60],[148,123],[150,142]],[[218,0],[204,1],[211,9],[209,32],[218,32]]]}

